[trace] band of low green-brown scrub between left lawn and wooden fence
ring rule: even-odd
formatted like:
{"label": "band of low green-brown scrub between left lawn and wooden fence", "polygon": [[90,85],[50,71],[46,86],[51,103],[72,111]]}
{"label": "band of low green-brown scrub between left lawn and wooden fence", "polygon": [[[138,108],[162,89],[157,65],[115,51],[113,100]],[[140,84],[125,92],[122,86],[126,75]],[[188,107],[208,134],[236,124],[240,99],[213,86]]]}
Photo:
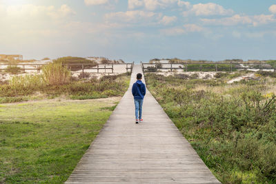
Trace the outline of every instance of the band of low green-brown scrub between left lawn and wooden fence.
{"label": "band of low green-brown scrub between left lawn and wooden fence", "polygon": [[129,76],[103,76],[90,81],[71,81],[63,85],[48,85],[42,75],[14,76],[9,84],[0,85],[0,103],[27,101],[28,99],[99,99],[122,96],[128,89]]}

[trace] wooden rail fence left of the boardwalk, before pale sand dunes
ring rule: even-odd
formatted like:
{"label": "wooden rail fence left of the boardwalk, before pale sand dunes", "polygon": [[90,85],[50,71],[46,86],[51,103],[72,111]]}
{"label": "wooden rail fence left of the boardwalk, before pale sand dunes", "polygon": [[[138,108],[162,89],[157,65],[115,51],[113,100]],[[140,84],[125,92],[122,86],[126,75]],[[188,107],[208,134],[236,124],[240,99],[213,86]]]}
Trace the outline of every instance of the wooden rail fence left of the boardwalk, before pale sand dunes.
{"label": "wooden rail fence left of the boardwalk, before pale sand dunes", "polygon": [[[16,66],[21,68],[23,72],[26,72],[26,70],[37,70],[39,73],[40,70],[42,70],[43,66],[47,64],[0,64],[0,71],[6,70],[8,66]],[[86,70],[93,70],[90,73],[114,73],[114,66],[115,65],[126,65],[126,72],[130,70],[132,72],[132,68],[134,65],[133,63],[116,63],[116,64],[93,64],[93,63],[71,63],[71,64],[63,64],[67,66],[68,69],[79,71],[81,70],[83,73]],[[101,70],[104,70],[104,72],[101,72]],[[106,72],[108,71],[108,72]]]}

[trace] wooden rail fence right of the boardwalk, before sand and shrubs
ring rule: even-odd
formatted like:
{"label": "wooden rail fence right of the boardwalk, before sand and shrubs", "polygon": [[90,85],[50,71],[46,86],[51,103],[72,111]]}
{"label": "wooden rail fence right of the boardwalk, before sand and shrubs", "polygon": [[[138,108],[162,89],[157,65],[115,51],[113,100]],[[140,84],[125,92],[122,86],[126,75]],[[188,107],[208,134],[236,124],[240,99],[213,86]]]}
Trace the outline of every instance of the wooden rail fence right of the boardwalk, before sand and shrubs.
{"label": "wooden rail fence right of the boardwalk, before sand and shrubs", "polygon": [[184,70],[184,72],[235,72],[239,70],[270,70],[276,65],[266,63],[141,63],[143,72]]}

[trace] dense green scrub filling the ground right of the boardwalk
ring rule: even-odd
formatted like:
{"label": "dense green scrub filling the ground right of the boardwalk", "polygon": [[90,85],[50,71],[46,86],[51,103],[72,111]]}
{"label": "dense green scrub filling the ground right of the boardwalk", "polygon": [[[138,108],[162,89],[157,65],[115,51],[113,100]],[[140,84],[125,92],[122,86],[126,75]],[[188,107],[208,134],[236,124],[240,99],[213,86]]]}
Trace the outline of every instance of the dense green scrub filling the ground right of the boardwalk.
{"label": "dense green scrub filling the ground right of the boardwalk", "polygon": [[146,74],[147,87],[222,183],[276,183],[275,78],[184,80]]}

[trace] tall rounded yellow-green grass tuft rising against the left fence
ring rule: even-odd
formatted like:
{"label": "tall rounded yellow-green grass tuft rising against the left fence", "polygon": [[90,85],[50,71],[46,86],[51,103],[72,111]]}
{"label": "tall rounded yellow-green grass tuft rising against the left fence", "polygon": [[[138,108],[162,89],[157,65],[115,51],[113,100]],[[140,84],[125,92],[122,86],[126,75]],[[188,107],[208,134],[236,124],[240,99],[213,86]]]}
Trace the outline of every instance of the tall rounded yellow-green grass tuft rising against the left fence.
{"label": "tall rounded yellow-green grass tuft rising against the left fence", "polygon": [[48,85],[62,85],[70,82],[70,70],[61,63],[49,63],[42,70]]}

